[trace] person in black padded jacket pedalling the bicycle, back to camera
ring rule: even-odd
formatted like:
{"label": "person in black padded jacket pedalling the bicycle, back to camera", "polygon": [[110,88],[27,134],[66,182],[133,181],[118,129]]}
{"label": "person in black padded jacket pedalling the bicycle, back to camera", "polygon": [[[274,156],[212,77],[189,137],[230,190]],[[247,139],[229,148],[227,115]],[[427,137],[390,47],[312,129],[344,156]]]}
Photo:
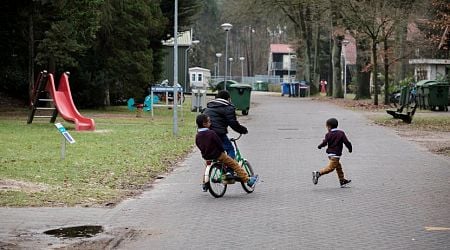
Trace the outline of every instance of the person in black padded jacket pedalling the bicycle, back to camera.
{"label": "person in black padded jacket pedalling the bicycle, back to camera", "polygon": [[223,142],[223,147],[231,158],[236,157],[233,144],[228,138],[228,126],[239,134],[247,134],[248,130],[236,118],[236,108],[230,102],[230,93],[221,90],[216,99],[208,102],[203,113],[211,119],[211,130],[214,130]]}

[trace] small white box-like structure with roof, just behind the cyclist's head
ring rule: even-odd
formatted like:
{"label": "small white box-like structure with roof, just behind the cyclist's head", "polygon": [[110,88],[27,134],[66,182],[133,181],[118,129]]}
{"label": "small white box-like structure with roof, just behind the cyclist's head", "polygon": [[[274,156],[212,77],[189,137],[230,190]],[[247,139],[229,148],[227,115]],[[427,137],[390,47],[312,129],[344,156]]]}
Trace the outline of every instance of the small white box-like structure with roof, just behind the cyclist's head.
{"label": "small white box-like structure with roof, just behind the cyclist's head", "polygon": [[192,88],[192,112],[200,112],[206,108],[206,90],[211,80],[211,71],[200,67],[189,68],[189,79]]}

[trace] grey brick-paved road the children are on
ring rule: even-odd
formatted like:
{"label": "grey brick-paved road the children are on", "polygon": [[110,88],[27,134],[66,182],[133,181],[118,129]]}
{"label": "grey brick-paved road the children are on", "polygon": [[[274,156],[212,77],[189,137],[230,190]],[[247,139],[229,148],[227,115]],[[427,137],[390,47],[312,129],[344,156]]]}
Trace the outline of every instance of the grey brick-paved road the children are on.
{"label": "grey brick-paved road the children are on", "polygon": [[[308,99],[254,93],[250,133],[239,145],[261,176],[253,194],[231,185],[220,199],[200,190],[194,151],[154,187],[114,209],[0,209],[0,248],[117,249],[450,249],[450,162],[372,125],[360,113]],[[317,145],[339,119],[354,145],[335,173]],[[68,225],[102,225],[80,240],[43,236]],[[427,230],[428,229],[428,230]],[[19,239],[19,240],[18,240]]]}

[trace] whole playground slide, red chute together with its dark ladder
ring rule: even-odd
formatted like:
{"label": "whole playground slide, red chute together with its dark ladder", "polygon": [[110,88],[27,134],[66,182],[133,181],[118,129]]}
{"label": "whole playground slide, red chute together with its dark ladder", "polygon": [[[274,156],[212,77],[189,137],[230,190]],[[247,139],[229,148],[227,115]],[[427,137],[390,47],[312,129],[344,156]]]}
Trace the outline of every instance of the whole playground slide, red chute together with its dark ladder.
{"label": "whole playground slide, red chute together with its dark ladder", "polygon": [[[69,74],[65,72],[61,75],[58,90],[56,90],[53,74],[47,71],[39,73],[31,95],[28,124],[32,123],[34,118],[50,118],[50,123],[55,123],[59,113],[64,120],[74,123],[77,131],[95,130],[94,120],[82,116],[73,103]],[[49,103],[50,107],[48,107]],[[52,115],[36,115],[37,111],[45,110],[52,111]]]}

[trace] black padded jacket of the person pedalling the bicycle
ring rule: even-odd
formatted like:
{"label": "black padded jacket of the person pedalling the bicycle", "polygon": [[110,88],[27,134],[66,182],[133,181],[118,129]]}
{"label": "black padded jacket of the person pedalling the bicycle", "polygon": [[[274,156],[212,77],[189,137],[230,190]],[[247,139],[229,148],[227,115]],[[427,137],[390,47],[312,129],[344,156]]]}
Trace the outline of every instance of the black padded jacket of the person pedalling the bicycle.
{"label": "black padded jacket of the person pedalling the bicycle", "polygon": [[229,101],[216,98],[206,105],[203,113],[211,119],[211,130],[218,136],[228,134],[228,126],[239,134],[247,134],[248,130],[236,118],[236,108]]}

